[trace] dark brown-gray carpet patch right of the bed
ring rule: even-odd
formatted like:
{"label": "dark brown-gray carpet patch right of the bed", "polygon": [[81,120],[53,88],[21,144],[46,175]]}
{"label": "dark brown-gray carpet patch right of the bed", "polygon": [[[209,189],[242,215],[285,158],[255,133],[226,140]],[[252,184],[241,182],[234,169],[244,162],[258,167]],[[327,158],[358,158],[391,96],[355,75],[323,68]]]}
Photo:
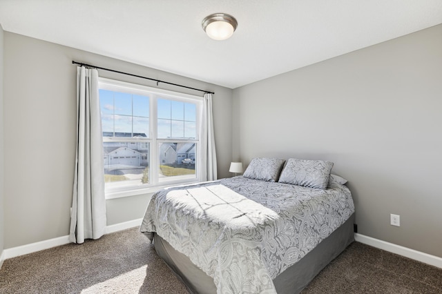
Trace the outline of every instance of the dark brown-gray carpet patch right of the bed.
{"label": "dark brown-gray carpet patch right of the bed", "polygon": [[442,269],[354,242],[302,291],[442,293]]}

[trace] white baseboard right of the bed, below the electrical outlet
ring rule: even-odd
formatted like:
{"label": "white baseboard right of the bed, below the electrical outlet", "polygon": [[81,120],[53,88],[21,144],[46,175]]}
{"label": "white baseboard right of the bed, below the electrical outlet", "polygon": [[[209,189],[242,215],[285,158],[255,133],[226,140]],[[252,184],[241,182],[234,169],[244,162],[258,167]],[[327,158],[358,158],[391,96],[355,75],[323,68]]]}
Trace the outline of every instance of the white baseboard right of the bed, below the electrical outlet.
{"label": "white baseboard right of the bed, below the electrical outlet", "polygon": [[421,251],[416,251],[414,249],[399,246],[379,239],[374,239],[372,237],[368,237],[358,233],[354,234],[354,239],[357,242],[361,242],[369,246],[373,246],[391,253],[395,253],[397,255],[402,255],[417,260],[418,262],[423,262],[424,264],[430,264],[432,266],[442,268],[442,258],[435,255],[430,255],[427,253],[423,253]]}

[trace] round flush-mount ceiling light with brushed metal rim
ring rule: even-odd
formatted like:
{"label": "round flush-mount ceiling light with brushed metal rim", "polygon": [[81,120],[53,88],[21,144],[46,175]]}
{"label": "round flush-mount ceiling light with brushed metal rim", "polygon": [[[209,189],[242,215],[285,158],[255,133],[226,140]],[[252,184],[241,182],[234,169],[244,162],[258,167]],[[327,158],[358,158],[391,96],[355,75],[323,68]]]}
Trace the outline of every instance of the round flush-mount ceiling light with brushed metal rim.
{"label": "round flush-mount ceiling light with brushed metal rim", "polygon": [[214,40],[229,39],[237,26],[235,17],[227,13],[213,13],[202,20],[202,29]]}

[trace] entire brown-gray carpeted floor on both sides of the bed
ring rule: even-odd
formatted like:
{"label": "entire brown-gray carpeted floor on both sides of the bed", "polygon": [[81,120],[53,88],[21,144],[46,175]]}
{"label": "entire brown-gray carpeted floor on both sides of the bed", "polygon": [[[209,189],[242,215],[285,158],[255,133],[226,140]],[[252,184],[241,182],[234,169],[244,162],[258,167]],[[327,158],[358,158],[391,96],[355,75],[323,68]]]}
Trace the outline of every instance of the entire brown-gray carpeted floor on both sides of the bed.
{"label": "entire brown-gray carpeted floor on both sides of the bed", "polygon": [[[6,259],[0,293],[187,293],[138,228]],[[442,293],[442,269],[354,242],[302,291]]]}

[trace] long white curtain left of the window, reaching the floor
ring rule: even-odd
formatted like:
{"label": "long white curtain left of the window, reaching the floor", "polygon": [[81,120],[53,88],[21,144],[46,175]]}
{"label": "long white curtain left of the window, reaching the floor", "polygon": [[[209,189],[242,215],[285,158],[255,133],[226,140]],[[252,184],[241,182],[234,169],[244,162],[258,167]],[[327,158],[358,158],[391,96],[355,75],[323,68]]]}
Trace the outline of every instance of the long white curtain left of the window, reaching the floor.
{"label": "long white curtain left of the window, reaching the floor", "polygon": [[103,135],[98,72],[77,69],[77,154],[70,215],[70,242],[98,239],[106,228]]}

